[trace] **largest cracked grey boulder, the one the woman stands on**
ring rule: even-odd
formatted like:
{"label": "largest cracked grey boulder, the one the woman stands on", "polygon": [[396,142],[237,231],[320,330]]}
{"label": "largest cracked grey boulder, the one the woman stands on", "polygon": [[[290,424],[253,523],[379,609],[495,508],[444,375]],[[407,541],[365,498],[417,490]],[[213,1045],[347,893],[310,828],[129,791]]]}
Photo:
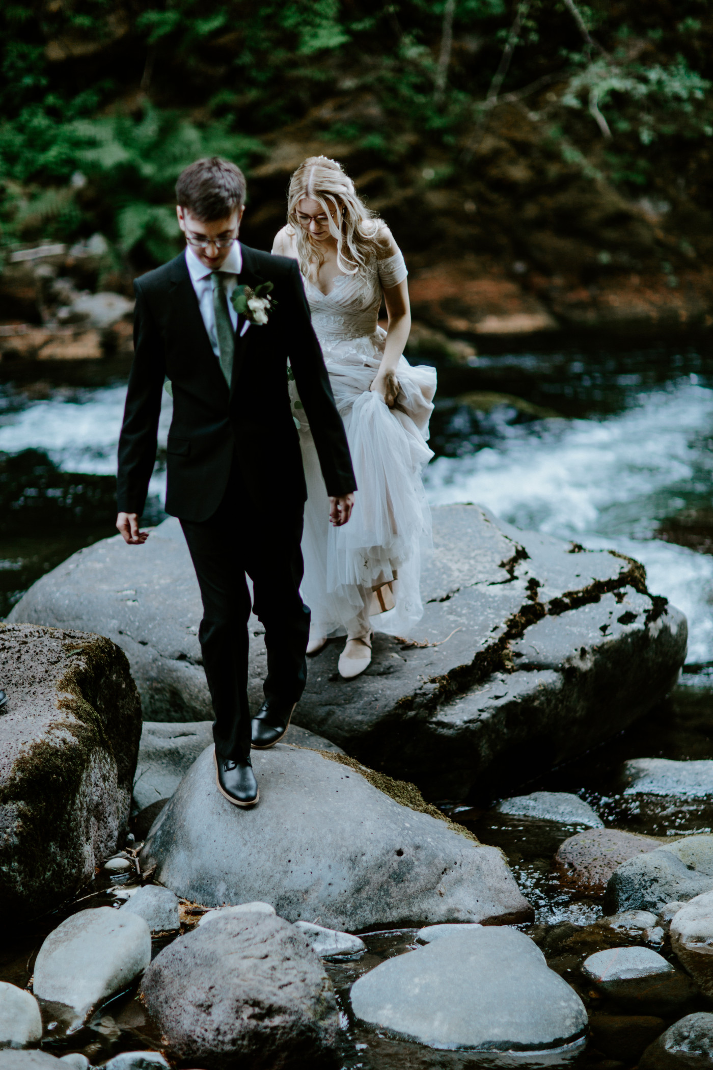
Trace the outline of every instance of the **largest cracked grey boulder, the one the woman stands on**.
{"label": "largest cracked grey boulder, the one the woman stands on", "polygon": [[[431,798],[551,768],[621,731],[677,679],[686,622],[650,595],[644,568],[610,551],[520,532],[477,505],[433,510],[423,620],[377,633],[369,670],[343,681],[341,643],[310,662],[297,723]],[[200,597],[175,520],[141,548],[120,536],[43,577],[13,621],[83,627],[126,652],[148,720],[211,718]],[[251,701],[263,629],[250,626]]]}

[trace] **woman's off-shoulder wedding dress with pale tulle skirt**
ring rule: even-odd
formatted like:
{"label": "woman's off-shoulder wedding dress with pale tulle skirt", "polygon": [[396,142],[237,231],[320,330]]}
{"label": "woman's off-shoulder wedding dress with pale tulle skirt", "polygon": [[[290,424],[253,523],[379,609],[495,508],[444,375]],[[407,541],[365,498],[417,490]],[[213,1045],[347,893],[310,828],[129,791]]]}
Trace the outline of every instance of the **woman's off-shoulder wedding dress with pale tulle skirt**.
{"label": "woman's off-shoulder wedding dress with pale tulle skirt", "polygon": [[[406,275],[398,250],[383,260],[372,255],[356,275],[338,275],[326,294],[305,280],[358,487],[348,523],[334,528],[314,442],[291,380],[308,490],[301,594],[312,610],[313,636],[358,637],[370,627],[408,635],[423,613],[420,565],[431,546],[431,514],[421,472],[433,457],[425,440],[436,372],[412,367],[402,356],[393,409],[369,389],[386,340],[377,324],[382,291]],[[373,614],[381,614],[378,622],[370,623]]]}

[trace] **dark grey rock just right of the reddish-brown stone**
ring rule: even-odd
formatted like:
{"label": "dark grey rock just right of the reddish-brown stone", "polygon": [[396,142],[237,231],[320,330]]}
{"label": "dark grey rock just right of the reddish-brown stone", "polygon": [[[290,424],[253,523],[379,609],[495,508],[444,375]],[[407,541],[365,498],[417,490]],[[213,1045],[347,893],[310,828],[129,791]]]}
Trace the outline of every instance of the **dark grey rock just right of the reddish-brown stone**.
{"label": "dark grey rock just right of the reddish-brown stone", "polygon": [[666,847],[635,855],[619,866],[606,886],[605,906],[621,911],[658,913],[673,900],[686,902],[713,889],[713,877],[689,870]]}

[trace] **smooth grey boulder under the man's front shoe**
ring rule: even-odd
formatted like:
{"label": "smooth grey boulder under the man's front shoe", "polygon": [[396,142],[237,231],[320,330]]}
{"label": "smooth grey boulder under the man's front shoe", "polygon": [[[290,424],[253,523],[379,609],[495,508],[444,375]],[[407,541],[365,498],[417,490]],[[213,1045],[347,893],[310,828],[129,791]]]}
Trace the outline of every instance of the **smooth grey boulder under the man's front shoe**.
{"label": "smooth grey boulder under the man's front shoe", "polygon": [[400,805],[357,769],[283,744],[253,751],[252,765],[260,805],[236,813],[203,751],[142,868],[156,865],[156,880],[206,906],[266,899],[289,921],[339,930],[531,916],[499,851]]}

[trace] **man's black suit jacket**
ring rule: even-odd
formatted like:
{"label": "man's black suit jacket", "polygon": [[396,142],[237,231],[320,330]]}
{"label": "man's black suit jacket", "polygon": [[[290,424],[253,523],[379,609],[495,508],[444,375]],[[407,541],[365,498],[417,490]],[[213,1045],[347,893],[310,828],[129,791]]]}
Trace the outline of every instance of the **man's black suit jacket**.
{"label": "man's black suit jacket", "polygon": [[[290,408],[286,361],[316,446],[327,493],[356,489],[346,435],[335,406],[295,260],[241,245],[238,284],[272,281],[268,322],[243,337],[239,318],[230,386],[208,340],[182,253],[136,279],[135,357],[119,442],[119,511],[143,511],[156,459],[165,377],[173,388],[168,437],[167,511],[206,520],[239,464],[252,503],[270,511],[307,496]],[[286,502],[285,502],[286,499]]]}

